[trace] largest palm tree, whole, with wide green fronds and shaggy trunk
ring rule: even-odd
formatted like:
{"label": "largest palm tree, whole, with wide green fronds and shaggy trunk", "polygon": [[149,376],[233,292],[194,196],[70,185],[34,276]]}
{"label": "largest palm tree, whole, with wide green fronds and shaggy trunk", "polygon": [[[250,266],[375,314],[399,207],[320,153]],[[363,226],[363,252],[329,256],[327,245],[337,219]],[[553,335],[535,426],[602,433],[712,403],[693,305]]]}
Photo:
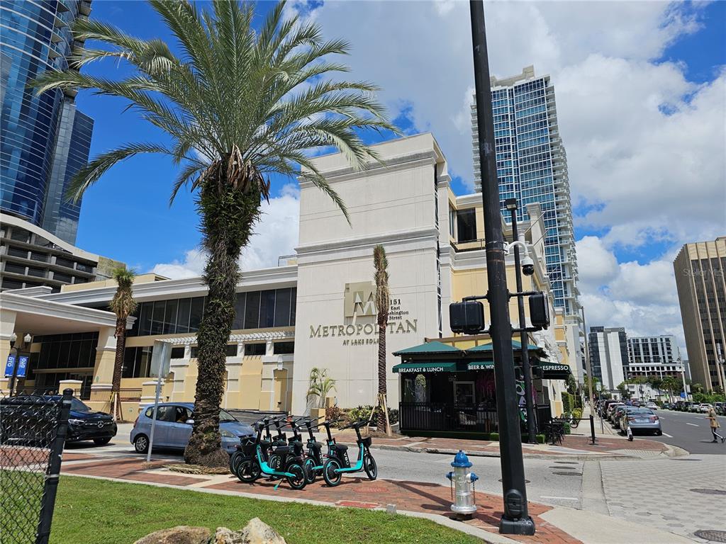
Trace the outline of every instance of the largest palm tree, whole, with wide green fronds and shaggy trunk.
{"label": "largest palm tree, whole, with wide green fronds and shaggy trunk", "polygon": [[[199,374],[195,423],[184,453],[188,463],[227,463],[220,449],[219,405],[224,392],[225,347],[234,318],[237,259],[269,198],[271,174],[303,176],[325,191],[348,218],[346,206],[311,160],[334,147],[357,169],[377,159],[360,129],[395,131],[370,83],[343,81],[346,65],[330,62],[347,54],[342,40],[325,41],[317,25],[283,17],[277,4],[253,28],[253,6],[215,0],[200,10],[191,1],[151,0],[178,42],[180,56],[160,40],[129,36],[112,25],[79,20],[84,49],[71,70],[46,72],[38,93],[52,88],[88,88],[121,96],[171,143],[135,142],[95,157],[70,186],[78,199],[117,162],[140,153],[165,154],[179,167],[171,200],[185,186],[195,192],[208,300],[197,335]],[[130,65],[121,81],[78,72],[99,59]],[[335,77],[333,77],[335,75]],[[302,172],[302,173],[301,173]]]}

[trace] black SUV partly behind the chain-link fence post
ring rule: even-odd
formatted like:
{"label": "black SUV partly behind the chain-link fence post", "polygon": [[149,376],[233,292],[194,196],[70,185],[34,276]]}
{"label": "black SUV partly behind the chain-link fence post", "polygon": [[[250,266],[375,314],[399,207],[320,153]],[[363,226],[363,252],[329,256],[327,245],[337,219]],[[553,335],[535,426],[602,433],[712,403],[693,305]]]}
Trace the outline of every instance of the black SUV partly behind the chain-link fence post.
{"label": "black SUV partly behind the chain-link fence post", "polygon": [[[0,442],[48,440],[44,429],[52,428],[51,419],[57,413],[48,408],[61,399],[61,395],[19,395],[0,400]],[[77,398],[70,401],[66,442],[93,440],[104,445],[115,437],[117,430],[109,413],[91,411]]]}

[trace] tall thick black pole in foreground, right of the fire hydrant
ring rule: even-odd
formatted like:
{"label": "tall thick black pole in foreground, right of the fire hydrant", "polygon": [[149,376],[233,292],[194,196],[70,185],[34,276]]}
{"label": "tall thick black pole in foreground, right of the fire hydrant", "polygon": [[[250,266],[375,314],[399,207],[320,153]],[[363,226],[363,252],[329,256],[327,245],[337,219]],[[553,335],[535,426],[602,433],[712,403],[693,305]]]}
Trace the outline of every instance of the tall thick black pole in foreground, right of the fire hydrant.
{"label": "tall thick black pole in foreground, right of the fire hydrant", "polygon": [[512,325],[509,321],[509,294],[504,257],[504,233],[499,213],[497,158],[494,150],[494,118],[492,89],[489,87],[489,58],[486,53],[484,4],[470,0],[471,38],[474,54],[476,86],[476,120],[478,124],[479,162],[481,165],[481,198],[484,202],[484,238],[489,293],[487,300],[492,316],[489,335],[494,350],[494,382],[497,389],[499,419],[499,450],[502,463],[504,515],[499,532],[509,535],[534,535],[534,522],[527,511],[524,484],[522,438],[519,429]]}

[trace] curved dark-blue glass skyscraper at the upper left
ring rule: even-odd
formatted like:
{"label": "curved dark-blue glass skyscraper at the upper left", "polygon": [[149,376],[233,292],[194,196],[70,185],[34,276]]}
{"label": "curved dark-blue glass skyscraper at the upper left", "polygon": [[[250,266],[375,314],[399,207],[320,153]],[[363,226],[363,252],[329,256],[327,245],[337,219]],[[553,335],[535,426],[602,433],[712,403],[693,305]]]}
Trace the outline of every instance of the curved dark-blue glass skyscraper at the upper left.
{"label": "curved dark-blue glass skyscraper at the upper left", "polygon": [[76,91],[35,96],[28,83],[45,70],[68,69],[83,48],[70,27],[88,17],[87,0],[0,3],[0,208],[74,244],[81,202],[64,198],[88,162],[93,120],[76,110]]}

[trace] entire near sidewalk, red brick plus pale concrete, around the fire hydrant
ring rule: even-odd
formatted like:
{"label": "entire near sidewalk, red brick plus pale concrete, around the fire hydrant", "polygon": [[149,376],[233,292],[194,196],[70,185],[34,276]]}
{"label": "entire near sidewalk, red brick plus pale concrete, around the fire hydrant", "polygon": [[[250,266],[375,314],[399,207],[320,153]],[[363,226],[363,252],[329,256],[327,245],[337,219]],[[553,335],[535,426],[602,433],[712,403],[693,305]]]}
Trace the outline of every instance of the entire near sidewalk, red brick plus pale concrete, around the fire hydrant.
{"label": "entire near sidewalk, red brick plus pale concrete, around the fire hydrant", "polygon": [[[462,530],[496,544],[621,544],[638,542],[645,544],[685,544],[683,537],[658,529],[650,529],[621,519],[611,518],[589,511],[572,510],[529,503],[529,513],[534,519],[537,534],[532,537],[499,535],[498,522],[502,516],[502,498],[490,493],[476,493],[478,511],[468,522],[453,519],[449,506],[449,486],[406,480],[346,477],[338,487],[327,487],[322,479],[304,490],[295,491],[286,482],[274,490],[275,482],[258,480],[255,484],[240,482],[231,474],[200,475],[180,474],[165,468],[178,459],[155,459],[144,463],[136,457],[100,458],[90,453],[64,454],[62,474],[79,477],[138,482],[160,487],[175,487],[203,493],[241,495],[266,500],[282,500],[314,503],[324,506],[368,508],[385,510],[394,505],[398,514],[425,517],[439,524]],[[61,478],[62,479],[62,478]]]}

